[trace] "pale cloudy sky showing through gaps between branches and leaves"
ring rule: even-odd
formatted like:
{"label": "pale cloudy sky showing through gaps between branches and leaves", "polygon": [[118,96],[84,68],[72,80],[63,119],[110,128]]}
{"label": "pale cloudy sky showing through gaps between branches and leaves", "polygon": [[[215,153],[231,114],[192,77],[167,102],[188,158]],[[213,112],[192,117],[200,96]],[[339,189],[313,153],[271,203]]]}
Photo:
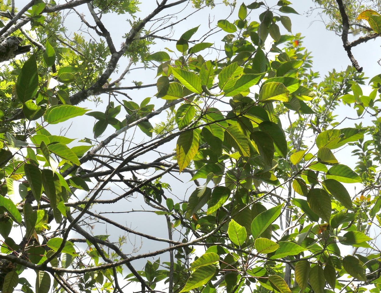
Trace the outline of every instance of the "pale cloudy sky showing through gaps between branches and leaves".
{"label": "pale cloudy sky showing through gaps between branches and leaves", "polygon": [[[23,5],[25,5],[27,2],[26,0],[18,0],[16,1],[16,6],[18,8],[21,8]],[[138,13],[138,17],[144,18],[156,5],[155,0],[141,0],[142,4],[140,5],[141,12]],[[172,2],[172,1],[169,1]],[[250,4],[253,1],[246,1],[245,4]],[[276,5],[278,0],[270,0],[267,1],[267,4],[269,5]],[[231,22],[233,22],[235,19],[237,19],[237,13],[238,13],[238,8],[241,2],[237,2],[237,8],[233,13],[233,16],[229,18]],[[183,5],[182,7],[184,7]],[[341,41],[341,37],[336,35],[334,32],[328,32],[325,30],[325,25],[322,23],[320,16],[317,15],[317,12],[319,10],[315,10],[312,13],[312,16],[307,17],[306,16],[306,11],[309,10],[311,6],[314,6],[314,3],[312,1],[306,1],[306,0],[295,0],[293,2],[293,5],[291,5],[293,8],[295,8],[296,11],[298,11],[301,15],[296,15],[296,14],[286,14],[291,18],[291,23],[292,23],[292,32],[293,34],[296,34],[300,32],[302,36],[305,36],[303,39],[303,47],[306,47],[308,51],[312,52],[313,58],[313,70],[314,71],[319,71],[321,76],[324,76],[327,74],[328,71],[331,69],[335,68],[336,71],[341,71],[345,70],[348,65],[351,65],[351,62],[349,61],[349,58],[347,57],[347,54],[343,48],[343,43]],[[186,11],[191,10],[191,6],[187,6]],[[81,9],[79,9],[81,11]],[[88,12],[86,6],[83,6],[83,12],[85,13],[86,19],[93,24],[93,21],[91,21],[91,16],[90,13]],[[249,10],[250,11],[250,10]],[[252,10],[251,11],[251,19],[252,20],[258,20],[258,15],[259,13],[262,13],[264,10],[263,8],[259,8],[257,10]],[[185,15],[184,13],[179,13],[179,8],[174,8],[173,13],[176,13],[176,16],[180,18],[181,15]],[[168,14],[168,11],[164,11],[165,14]],[[210,10],[208,8],[205,8],[202,11],[199,11],[198,13],[194,14],[193,16],[189,17],[186,21],[183,21],[180,24],[177,24],[175,26],[175,31],[172,32],[170,37],[172,39],[178,39],[182,33],[187,31],[188,29],[191,29],[195,26],[198,26],[201,24],[199,31],[194,35],[194,39],[198,39],[201,37],[204,33],[205,30],[207,29],[208,25],[208,18],[210,15],[210,18],[213,21],[213,25],[217,23],[219,19],[226,19],[226,17],[230,13],[230,8],[226,7],[224,5],[218,5],[216,8],[213,10]],[[164,14],[161,14],[164,15]],[[115,14],[106,14],[102,17],[102,21],[104,22],[106,28],[111,32],[115,46],[118,48],[118,45],[123,42],[123,35],[128,33],[129,31],[129,24],[126,21],[126,18],[128,18],[128,14],[124,15],[119,15],[116,16]],[[176,19],[173,19],[172,22],[176,21]],[[69,31],[77,32],[78,28],[80,27],[80,20],[75,14],[72,14],[68,16],[66,26],[69,29]],[[83,27],[85,27],[83,25]],[[280,25],[281,33],[282,34],[287,34],[287,31]],[[96,39],[99,39],[99,37],[95,33],[91,33]],[[216,47],[221,45],[221,49],[223,49],[223,44],[222,42],[219,42],[223,36],[226,35],[225,32],[219,33],[217,35],[212,36],[209,40],[206,40],[206,42],[216,42]],[[349,38],[352,36],[349,35]],[[192,38],[193,39],[193,38]],[[351,39],[350,39],[351,40]],[[171,48],[173,51],[176,51],[175,48],[175,42],[161,42],[160,40],[157,41],[157,45],[152,47],[152,52],[157,52],[157,51],[164,51],[164,47]],[[358,45],[357,47],[354,47],[352,49],[352,53],[359,62],[360,66],[363,67],[363,71],[365,72],[365,76],[368,77],[373,77],[377,74],[380,73],[381,68],[377,64],[377,61],[379,58],[381,58],[381,50],[380,50],[380,38],[376,38],[375,40],[370,40],[368,43],[363,43]],[[200,52],[201,54],[205,54],[205,51]],[[174,53],[170,53],[170,56],[174,57]],[[221,52],[222,55],[224,55],[224,52]],[[210,59],[215,59],[215,56],[210,56]],[[205,57],[205,60],[208,60],[207,57]],[[123,72],[125,69],[126,65],[128,64],[128,59],[124,58],[119,66],[119,72]],[[147,69],[146,71],[144,70],[134,70],[131,71],[131,74],[128,74],[125,76],[125,80],[122,81],[121,85],[122,86],[132,86],[133,80],[136,81],[142,81],[143,84],[152,84],[156,82],[155,79],[156,76],[156,70],[152,71]],[[112,79],[116,79],[118,76],[114,74],[112,76]],[[364,90],[364,89],[363,89]],[[136,103],[140,104],[140,102],[146,98],[146,97],[152,97],[150,103],[154,103],[155,109],[159,108],[162,106],[165,101],[157,99],[156,97],[153,97],[153,95],[156,93],[156,88],[152,89],[141,89],[141,90],[134,90],[131,91],[131,98],[133,101]],[[364,94],[366,91],[364,90]],[[125,97],[119,97],[121,100],[125,99]],[[83,102],[79,106],[81,107],[87,107],[89,109],[92,109],[93,111],[104,111],[106,106],[107,106],[107,96],[103,95],[102,100],[104,103],[99,105],[98,108],[95,108],[94,103],[92,102]],[[349,110],[351,111],[351,117],[357,118],[356,112],[349,108],[348,106],[342,107],[342,109],[339,110],[340,116],[348,116]],[[122,107],[121,114],[118,116],[120,120],[124,119],[124,110]],[[165,119],[165,113],[162,114],[160,117],[156,117],[156,122],[159,122],[160,119]],[[154,120],[155,121],[155,120]],[[340,118],[337,118],[337,121],[341,121]],[[71,127],[68,132],[67,132],[67,137],[70,138],[78,138],[82,139],[84,137],[89,137],[93,138],[93,122],[95,122],[95,119],[88,117],[88,116],[83,116],[83,126],[78,127],[78,126],[73,126]],[[359,123],[359,121],[354,121],[356,123]],[[348,121],[348,124],[344,124],[343,127],[352,127],[354,126],[353,121]],[[74,122],[76,125],[78,125],[78,120]],[[353,123],[353,124],[352,124]],[[368,125],[368,123],[364,122],[365,125]],[[58,124],[58,126],[55,126],[55,128],[50,127],[48,130],[52,132],[52,134],[59,134],[57,132],[60,131],[61,127],[63,124]],[[70,121],[68,124],[66,124],[66,127],[70,125]],[[74,124],[73,124],[74,125]],[[103,138],[107,137],[109,134],[112,133],[114,130],[113,127],[109,126],[104,133]],[[65,130],[66,131],[66,130]],[[63,133],[65,133],[65,131]],[[128,137],[132,137],[133,135],[133,130],[130,130],[126,134],[126,139]],[[120,135],[119,138],[122,138],[123,135]],[[99,138],[99,141],[103,139],[102,137]],[[140,142],[141,140],[147,140],[147,137],[141,133],[139,129],[136,130],[136,136],[134,137],[134,140]],[[174,144],[172,143],[173,148]],[[166,145],[168,146],[168,145]],[[169,152],[170,150],[164,149],[166,152]],[[348,151],[341,151],[337,154],[335,154],[336,158],[349,166],[351,166],[350,160],[348,160]],[[149,154],[147,154],[149,156]],[[155,158],[157,155],[154,155]],[[144,158],[143,158],[144,159]],[[147,157],[147,161],[149,158]],[[354,164],[355,161],[352,162]],[[190,176],[185,174],[185,175],[180,175],[179,179],[183,180],[184,182],[188,182],[190,179]],[[192,182],[183,184],[179,182],[178,180],[174,179],[170,175],[166,175],[166,177],[163,179],[164,181],[168,182],[173,190],[174,195],[179,196],[179,198],[184,198],[186,189],[191,187],[189,191],[186,193],[187,196],[191,194],[191,192],[194,190],[194,186]],[[115,189],[115,188],[114,188]],[[115,190],[115,192],[122,192],[121,190]],[[77,192],[76,192],[77,194]],[[77,194],[78,197],[80,197],[80,192]],[[354,195],[353,192],[350,192],[351,196]],[[110,195],[113,197],[113,195]],[[169,195],[168,195],[169,196]],[[139,196],[138,196],[139,197]],[[170,196],[171,197],[171,196]],[[175,200],[175,199],[174,199]],[[176,200],[175,200],[176,202]],[[131,208],[133,209],[141,209],[141,200],[135,200],[135,201],[124,201],[125,207],[121,206],[120,211],[127,211],[130,210]],[[122,203],[121,203],[122,204]],[[98,205],[95,206],[94,210],[96,211],[107,211],[109,207],[107,205]],[[113,218],[112,215],[108,215],[110,218]],[[166,238],[168,237],[168,232],[166,229],[166,223],[165,223],[165,217],[164,216],[157,216],[155,214],[151,213],[130,213],[130,214],[116,214],[114,219],[120,221],[120,218],[123,217],[123,220],[125,220],[125,223],[128,227],[131,227],[132,229],[136,229],[140,232],[143,233],[148,233],[153,236],[157,237],[163,237]],[[106,234],[105,231],[106,226],[105,225],[98,225],[95,227],[95,234]],[[108,227],[110,228],[110,227]],[[119,235],[119,231],[117,234],[113,233],[112,229],[107,230],[107,234],[112,234],[112,237],[114,239],[117,239]],[[133,239],[131,239],[133,240]],[[174,238],[174,240],[178,240]],[[157,250],[159,248],[166,247],[165,243],[157,243],[155,242],[155,245],[152,246],[152,242],[149,240],[143,239],[143,246],[141,251],[139,253],[144,253],[150,250]],[[136,238],[136,245],[140,246],[141,240],[140,238]],[[130,245],[132,248],[132,245]],[[163,256],[161,258],[163,261]],[[146,260],[139,261],[137,269],[139,269],[139,266],[144,266]],[[136,265],[136,262],[133,262],[133,264]],[[127,272],[126,272],[127,273]]]}

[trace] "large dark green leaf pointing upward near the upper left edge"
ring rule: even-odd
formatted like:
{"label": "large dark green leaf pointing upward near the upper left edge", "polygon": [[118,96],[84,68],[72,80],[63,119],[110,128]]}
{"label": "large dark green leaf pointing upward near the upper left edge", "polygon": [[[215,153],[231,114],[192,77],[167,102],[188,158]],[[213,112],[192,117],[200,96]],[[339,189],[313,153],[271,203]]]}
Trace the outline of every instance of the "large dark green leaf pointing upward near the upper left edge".
{"label": "large dark green leaf pointing upward near the upper left edge", "polygon": [[16,93],[21,103],[32,100],[38,89],[37,62],[34,55],[30,56],[21,68],[16,81]]}

